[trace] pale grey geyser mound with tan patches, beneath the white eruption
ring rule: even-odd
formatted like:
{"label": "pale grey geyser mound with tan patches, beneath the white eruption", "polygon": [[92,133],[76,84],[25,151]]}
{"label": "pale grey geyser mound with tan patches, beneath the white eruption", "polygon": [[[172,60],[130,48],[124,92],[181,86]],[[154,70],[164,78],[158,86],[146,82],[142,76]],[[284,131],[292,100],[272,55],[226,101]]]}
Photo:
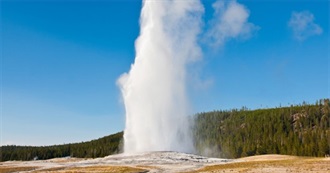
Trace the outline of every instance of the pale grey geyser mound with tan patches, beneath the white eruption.
{"label": "pale grey geyser mound with tan patches, beneath the white eruption", "polygon": [[[183,172],[207,165],[225,164],[232,160],[207,158],[179,152],[143,152],[117,154],[104,158],[56,158],[38,161],[12,161],[0,163],[2,168],[20,168],[20,172]],[[22,169],[26,168],[26,169]],[[131,171],[127,171],[131,170]],[[17,169],[18,170],[18,169]],[[26,170],[26,171],[23,171]]]}

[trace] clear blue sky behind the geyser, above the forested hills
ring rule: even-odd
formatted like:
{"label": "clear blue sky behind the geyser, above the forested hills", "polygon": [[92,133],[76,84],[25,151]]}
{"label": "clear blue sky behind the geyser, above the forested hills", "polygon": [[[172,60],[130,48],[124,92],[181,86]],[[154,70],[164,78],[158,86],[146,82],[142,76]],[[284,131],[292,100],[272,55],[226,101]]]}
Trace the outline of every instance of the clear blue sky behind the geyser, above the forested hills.
{"label": "clear blue sky behind the geyser, above the forested hills", "polygon": [[[203,1],[205,31],[214,2]],[[201,43],[192,112],[329,98],[329,1],[238,2],[258,29],[217,49]],[[1,144],[81,142],[123,130],[116,80],[134,62],[140,9],[138,0],[1,1]]]}

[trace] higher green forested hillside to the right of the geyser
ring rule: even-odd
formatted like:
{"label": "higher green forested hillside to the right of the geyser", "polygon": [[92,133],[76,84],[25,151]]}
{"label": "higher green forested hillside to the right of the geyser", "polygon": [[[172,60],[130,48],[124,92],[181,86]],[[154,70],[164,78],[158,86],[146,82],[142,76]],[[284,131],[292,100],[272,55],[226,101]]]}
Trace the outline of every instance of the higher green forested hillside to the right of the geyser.
{"label": "higher green forested hillside to the right of the geyser", "polygon": [[195,122],[195,146],[202,155],[330,155],[329,99],[312,105],[200,113]]}

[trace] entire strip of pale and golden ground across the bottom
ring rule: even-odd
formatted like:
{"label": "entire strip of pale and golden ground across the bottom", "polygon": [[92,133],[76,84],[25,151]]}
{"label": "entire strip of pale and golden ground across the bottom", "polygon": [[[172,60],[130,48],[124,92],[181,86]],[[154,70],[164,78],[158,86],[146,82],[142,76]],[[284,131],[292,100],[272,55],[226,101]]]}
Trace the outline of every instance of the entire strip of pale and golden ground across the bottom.
{"label": "entire strip of pale and golden ground across the bottom", "polygon": [[228,160],[177,152],[150,152],[118,154],[97,159],[58,158],[43,161],[0,162],[0,173],[7,172],[330,173],[330,158],[262,155]]}

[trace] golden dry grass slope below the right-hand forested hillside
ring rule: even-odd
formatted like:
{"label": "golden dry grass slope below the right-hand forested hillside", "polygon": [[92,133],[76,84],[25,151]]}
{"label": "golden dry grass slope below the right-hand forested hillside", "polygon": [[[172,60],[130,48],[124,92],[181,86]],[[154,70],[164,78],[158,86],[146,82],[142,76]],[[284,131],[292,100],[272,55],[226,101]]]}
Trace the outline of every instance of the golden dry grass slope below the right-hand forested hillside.
{"label": "golden dry grass slope below the right-hand forested hillside", "polygon": [[[213,173],[329,173],[330,159],[325,158],[306,158],[283,156],[282,158],[274,158],[272,156],[251,157],[239,159],[242,162],[234,162],[220,165],[206,166],[197,172],[213,172]],[[269,158],[267,160],[267,158]]]}

